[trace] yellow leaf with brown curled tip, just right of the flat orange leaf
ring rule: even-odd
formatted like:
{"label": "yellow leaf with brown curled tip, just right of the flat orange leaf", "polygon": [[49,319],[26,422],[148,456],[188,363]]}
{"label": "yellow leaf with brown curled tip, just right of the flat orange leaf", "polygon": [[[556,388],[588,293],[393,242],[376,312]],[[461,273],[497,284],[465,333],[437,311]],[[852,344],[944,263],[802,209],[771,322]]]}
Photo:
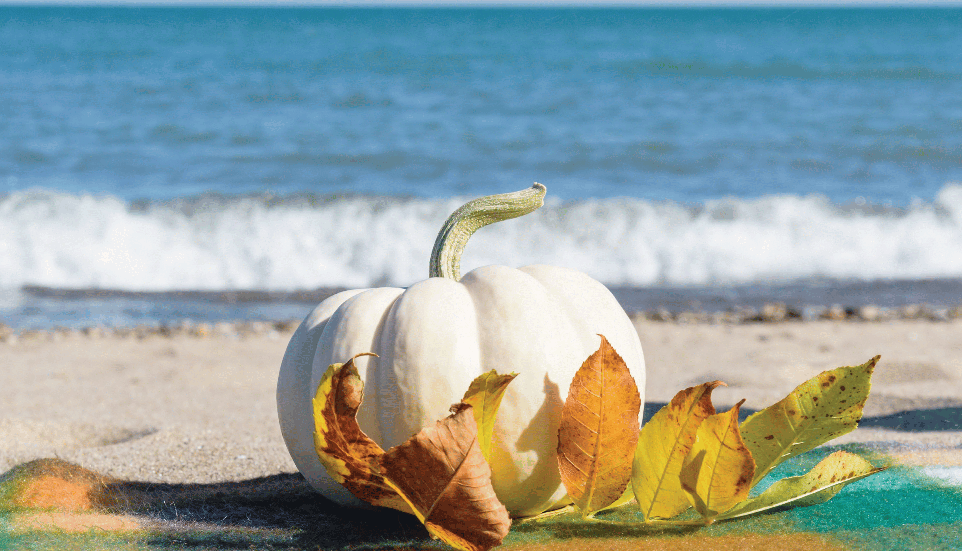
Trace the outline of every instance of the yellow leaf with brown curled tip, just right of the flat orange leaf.
{"label": "yellow leaf with brown curled tip, just right of the flat orange leaf", "polygon": [[681,465],[692,451],[701,422],[715,414],[712,390],[722,381],[685,388],[642,428],[631,470],[638,506],[651,518],[671,518],[690,507],[681,488]]}

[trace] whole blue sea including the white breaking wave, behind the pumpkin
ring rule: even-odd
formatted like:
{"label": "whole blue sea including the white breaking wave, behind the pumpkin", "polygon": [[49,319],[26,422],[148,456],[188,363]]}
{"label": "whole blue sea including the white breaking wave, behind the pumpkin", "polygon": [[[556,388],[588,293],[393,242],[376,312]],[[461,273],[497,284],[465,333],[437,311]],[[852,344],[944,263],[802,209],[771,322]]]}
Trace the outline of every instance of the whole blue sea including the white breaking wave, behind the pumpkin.
{"label": "whole blue sea including the white breaking wave, behind the pumpkin", "polygon": [[962,303],[960,29],[3,6],[0,321],[300,316],[300,291],[425,278],[448,213],[535,181],[545,207],[479,232],[465,271],[569,266],[628,310]]}

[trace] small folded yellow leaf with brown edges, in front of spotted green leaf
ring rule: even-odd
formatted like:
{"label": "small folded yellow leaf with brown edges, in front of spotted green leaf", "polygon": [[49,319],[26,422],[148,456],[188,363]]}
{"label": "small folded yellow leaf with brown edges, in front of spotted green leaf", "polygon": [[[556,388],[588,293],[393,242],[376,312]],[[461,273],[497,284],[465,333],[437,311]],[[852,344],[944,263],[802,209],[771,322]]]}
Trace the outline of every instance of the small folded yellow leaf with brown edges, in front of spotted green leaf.
{"label": "small folded yellow leaf with brown edges, in front of spotted green leaf", "polygon": [[681,488],[705,524],[748,497],[755,463],[738,433],[738,409],[743,403],[701,423],[681,467]]}

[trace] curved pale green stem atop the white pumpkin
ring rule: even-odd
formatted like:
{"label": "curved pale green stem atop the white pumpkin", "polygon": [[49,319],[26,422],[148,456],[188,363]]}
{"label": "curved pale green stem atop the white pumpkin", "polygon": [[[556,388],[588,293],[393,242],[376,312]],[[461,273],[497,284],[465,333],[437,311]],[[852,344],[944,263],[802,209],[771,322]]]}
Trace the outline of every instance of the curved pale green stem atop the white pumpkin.
{"label": "curved pale green stem atop the white pumpkin", "polygon": [[448,216],[431,251],[431,277],[461,279],[461,255],[465,253],[468,239],[474,232],[487,226],[534,213],[544,205],[544,192],[541,184],[514,193],[489,195],[475,199]]}

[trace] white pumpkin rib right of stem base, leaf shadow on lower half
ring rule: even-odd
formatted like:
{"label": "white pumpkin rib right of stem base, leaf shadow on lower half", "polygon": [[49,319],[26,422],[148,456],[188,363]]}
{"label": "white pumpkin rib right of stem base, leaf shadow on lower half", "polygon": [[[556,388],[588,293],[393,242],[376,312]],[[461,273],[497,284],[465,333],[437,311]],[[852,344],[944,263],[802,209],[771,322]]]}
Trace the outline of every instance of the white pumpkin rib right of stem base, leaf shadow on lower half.
{"label": "white pumpkin rib right of stem base, leaf shadow on lower half", "polygon": [[513,515],[563,499],[554,461],[563,396],[587,354],[570,319],[537,278],[483,266],[462,278],[477,308],[482,370],[517,371],[494,422],[492,484]]}

